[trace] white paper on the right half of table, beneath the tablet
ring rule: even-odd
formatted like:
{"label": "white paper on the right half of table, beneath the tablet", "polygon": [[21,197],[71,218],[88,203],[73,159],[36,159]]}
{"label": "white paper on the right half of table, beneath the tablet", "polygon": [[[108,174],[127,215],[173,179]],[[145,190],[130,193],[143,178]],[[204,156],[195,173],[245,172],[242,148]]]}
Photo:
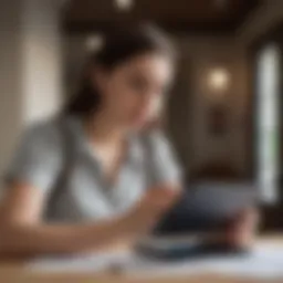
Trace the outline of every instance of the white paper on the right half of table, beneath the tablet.
{"label": "white paper on the right half of table, beneath the tablet", "polygon": [[283,247],[261,244],[247,255],[214,256],[178,263],[158,263],[136,259],[127,266],[135,273],[146,271],[147,275],[191,275],[213,273],[235,277],[283,279]]}

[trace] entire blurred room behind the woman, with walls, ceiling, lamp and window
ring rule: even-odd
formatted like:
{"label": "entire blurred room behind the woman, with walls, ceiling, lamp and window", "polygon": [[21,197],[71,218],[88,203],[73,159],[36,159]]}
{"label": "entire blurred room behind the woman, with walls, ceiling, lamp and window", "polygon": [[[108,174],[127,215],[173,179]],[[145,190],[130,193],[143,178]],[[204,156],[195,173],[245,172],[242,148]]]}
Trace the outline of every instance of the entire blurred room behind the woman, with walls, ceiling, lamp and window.
{"label": "entire blurred room behind the woman, with walls, ceiling, lamp and window", "polygon": [[165,130],[188,187],[255,184],[264,226],[283,228],[282,0],[2,0],[0,19],[1,175],[22,130],[75,90],[104,34],[149,21],[180,54]]}

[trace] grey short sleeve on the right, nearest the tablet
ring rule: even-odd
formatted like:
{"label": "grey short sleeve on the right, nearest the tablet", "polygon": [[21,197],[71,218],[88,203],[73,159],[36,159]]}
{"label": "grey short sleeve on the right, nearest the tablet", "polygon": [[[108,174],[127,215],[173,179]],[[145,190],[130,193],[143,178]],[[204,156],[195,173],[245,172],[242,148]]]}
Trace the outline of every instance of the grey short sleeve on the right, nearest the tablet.
{"label": "grey short sleeve on the right, nearest the tablet", "polygon": [[149,182],[181,184],[182,172],[169,139],[160,132],[153,132],[146,138],[146,159]]}

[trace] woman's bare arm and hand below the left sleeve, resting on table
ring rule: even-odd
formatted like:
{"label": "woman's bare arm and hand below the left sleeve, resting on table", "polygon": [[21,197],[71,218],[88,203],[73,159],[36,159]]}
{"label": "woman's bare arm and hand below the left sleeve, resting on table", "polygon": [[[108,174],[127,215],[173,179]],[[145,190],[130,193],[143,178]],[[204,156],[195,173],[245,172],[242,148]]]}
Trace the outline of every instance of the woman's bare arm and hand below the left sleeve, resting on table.
{"label": "woman's bare arm and hand below the left sleeve, resting on table", "polygon": [[13,185],[0,213],[0,253],[75,253],[133,241],[155,224],[174,199],[175,193],[167,189],[151,189],[119,218],[87,224],[46,224],[41,222],[42,191],[27,184]]}

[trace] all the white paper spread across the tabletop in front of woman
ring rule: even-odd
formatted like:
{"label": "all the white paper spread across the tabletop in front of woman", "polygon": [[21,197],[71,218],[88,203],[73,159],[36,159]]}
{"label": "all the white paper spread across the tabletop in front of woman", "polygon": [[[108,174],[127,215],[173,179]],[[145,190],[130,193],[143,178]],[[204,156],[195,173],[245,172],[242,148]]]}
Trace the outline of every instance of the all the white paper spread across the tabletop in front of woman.
{"label": "all the white paper spread across the tabletop in front of woman", "polygon": [[175,263],[150,261],[128,252],[97,253],[74,258],[36,259],[27,264],[35,272],[97,272],[118,268],[143,276],[201,273],[252,279],[283,279],[283,245],[258,244],[247,255],[214,256]]}

